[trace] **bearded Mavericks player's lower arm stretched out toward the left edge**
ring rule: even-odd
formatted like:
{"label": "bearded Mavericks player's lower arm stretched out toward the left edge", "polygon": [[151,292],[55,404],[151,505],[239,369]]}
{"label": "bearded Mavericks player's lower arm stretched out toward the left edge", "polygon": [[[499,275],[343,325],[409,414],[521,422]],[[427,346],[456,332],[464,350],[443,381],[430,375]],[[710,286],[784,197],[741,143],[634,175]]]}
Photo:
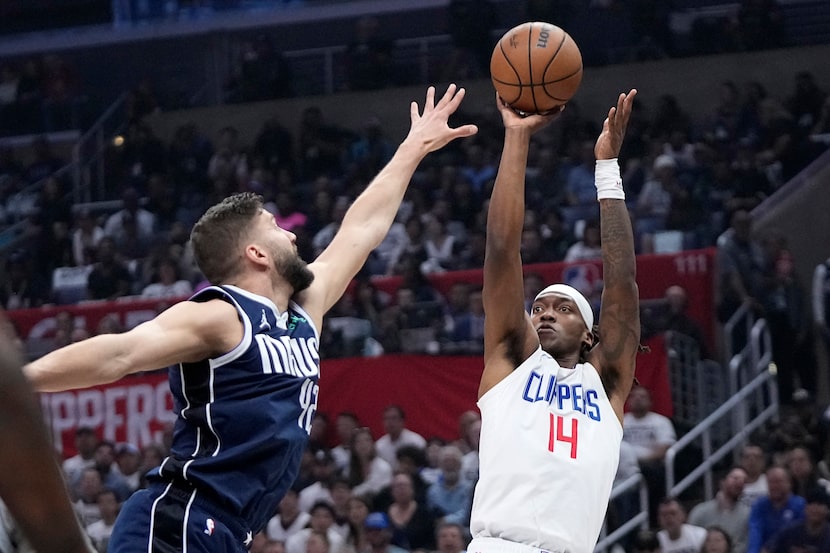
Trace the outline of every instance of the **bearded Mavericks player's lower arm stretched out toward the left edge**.
{"label": "bearded Mavericks player's lower arm stretched out toward the left edge", "polygon": [[236,309],[222,300],[177,303],[121,334],[101,334],[24,367],[41,392],[114,382],[128,374],[198,361],[233,349],[243,336]]}

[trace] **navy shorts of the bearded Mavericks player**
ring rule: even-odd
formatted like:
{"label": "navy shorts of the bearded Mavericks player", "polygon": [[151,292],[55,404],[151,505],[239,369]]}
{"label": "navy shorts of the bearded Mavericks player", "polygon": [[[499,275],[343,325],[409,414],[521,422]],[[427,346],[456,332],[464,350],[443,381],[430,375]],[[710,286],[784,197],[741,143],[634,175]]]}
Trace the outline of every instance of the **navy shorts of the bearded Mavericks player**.
{"label": "navy shorts of the bearded Mavericks player", "polygon": [[251,533],[195,490],[152,484],[124,502],[107,553],[245,553]]}

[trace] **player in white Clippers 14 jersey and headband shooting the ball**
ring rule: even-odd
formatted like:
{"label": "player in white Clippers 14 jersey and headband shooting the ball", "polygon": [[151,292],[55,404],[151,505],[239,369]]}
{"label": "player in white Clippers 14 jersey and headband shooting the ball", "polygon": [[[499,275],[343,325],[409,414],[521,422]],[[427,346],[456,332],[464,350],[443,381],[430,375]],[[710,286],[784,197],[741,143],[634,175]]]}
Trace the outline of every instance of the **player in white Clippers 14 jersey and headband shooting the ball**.
{"label": "player in white Clippers 14 jersey and headband shooting the ball", "polygon": [[596,545],[640,344],[634,239],[616,159],[636,93],[620,94],[594,148],[601,339],[588,300],[565,284],[548,286],[530,314],[524,310],[519,246],[528,147],[555,115],[520,117],[497,97],[505,138],[487,218],[470,553],[590,553]]}

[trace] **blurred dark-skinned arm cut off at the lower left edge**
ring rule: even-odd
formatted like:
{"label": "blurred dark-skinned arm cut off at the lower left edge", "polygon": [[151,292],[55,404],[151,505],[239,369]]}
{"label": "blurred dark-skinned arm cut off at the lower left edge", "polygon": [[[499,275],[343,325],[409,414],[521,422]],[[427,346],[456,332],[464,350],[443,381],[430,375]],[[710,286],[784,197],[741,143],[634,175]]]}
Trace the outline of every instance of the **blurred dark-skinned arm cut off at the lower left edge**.
{"label": "blurred dark-skinned arm cut off at the lower left edge", "polygon": [[22,364],[0,331],[0,497],[36,550],[89,553]]}

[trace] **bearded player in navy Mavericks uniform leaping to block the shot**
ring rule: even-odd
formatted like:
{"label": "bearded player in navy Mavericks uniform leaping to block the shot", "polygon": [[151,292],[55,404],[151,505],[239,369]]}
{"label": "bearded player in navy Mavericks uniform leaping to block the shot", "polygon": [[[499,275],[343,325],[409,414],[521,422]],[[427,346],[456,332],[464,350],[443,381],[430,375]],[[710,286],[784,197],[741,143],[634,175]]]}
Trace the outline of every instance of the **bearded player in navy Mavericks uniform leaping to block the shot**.
{"label": "bearded player in navy Mavericks uniform leaping to block the shot", "polygon": [[178,415],[170,455],[115,523],[109,553],[247,551],[299,472],[317,407],[323,315],[389,230],[421,160],[477,132],[450,128],[464,89],[450,85],[351,205],[331,244],[306,265],[296,237],[238,194],[191,234],[213,286],[124,334],[96,336],[26,367],[37,389],[103,384],[170,368]]}

